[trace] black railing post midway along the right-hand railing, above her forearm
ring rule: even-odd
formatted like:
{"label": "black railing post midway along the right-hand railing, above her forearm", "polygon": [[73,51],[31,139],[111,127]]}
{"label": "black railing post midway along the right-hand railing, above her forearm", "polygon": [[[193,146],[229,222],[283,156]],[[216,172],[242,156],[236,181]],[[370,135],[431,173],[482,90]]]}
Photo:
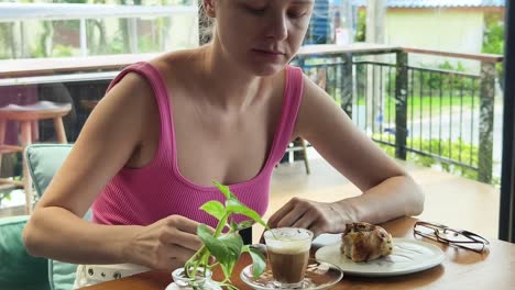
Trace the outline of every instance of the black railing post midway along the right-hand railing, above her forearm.
{"label": "black railing post midway along the right-hand railing, above her forearm", "polygon": [[397,52],[395,74],[395,157],[406,160],[408,55]]}

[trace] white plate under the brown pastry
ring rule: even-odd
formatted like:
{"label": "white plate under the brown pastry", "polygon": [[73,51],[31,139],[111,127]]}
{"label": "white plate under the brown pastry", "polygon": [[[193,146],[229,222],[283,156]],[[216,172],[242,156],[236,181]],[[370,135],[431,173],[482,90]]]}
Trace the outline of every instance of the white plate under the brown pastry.
{"label": "white plate under the brown pastry", "polygon": [[321,247],[315,254],[319,260],[332,263],[346,275],[387,277],[406,275],[432,268],[446,258],[443,252],[429,243],[393,238],[394,249],[390,256],[370,261],[355,263],[340,252],[341,243]]}

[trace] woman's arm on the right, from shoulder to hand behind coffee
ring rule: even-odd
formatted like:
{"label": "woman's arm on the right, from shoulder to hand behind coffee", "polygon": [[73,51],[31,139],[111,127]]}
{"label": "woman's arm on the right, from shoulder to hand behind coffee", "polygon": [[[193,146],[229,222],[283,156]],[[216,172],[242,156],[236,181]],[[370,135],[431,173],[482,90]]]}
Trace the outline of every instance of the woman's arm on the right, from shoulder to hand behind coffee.
{"label": "woman's arm on the right, from shoulder to hand behind coffee", "polygon": [[333,203],[294,199],[271,217],[270,224],[337,233],[344,230],[346,222],[381,223],[419,214],[424,194],[415,181],[359,131],[322,89],[307,77],[304,83],[294,136],[309,141],[363,194]]}

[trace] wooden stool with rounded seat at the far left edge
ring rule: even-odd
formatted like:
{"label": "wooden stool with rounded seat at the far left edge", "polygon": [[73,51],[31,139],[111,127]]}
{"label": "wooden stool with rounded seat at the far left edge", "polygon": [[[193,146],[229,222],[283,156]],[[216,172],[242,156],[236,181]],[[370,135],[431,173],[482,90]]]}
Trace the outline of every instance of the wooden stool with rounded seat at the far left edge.
{"label": "wooden stool with rounded seat at the far left edge", "polygon": [[[72,110],[69,103],[54,103],[48,101],[40,101],[33,104],[18,105],[9,104],[0,108],[0,168],[2,163],[2,154],[23,153],[25,147],[32,144],[32,122],[39,120],[53,119],[57,142],[67,143],[66,132],[63,125],[63,116]],[[15,121],[20,124],[21,145],[7,145],[6,127],[8,121]],[[0,189],[3,187],[23,187],[25,191],[25,212],[29,214],[32,211],[32,179],[29,175],[29,168],[23,156],[23,181],[14,181],[0,178]]]}

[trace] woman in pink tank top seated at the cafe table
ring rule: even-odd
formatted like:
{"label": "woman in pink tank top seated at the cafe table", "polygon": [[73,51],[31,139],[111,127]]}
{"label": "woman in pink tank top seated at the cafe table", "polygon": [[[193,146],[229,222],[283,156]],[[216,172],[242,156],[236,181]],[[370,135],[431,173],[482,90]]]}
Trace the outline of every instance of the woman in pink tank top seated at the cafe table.
{"label": "woman in pink tank top seated at the cafe table", "polygon": [[[424,197],[325,91],[288,66],[314,0],[204,0],[213,40],[125,69],[91,113],[26,225],[32,255],[172,270],[201,246],[198,210],[230,185],[260,214],[274,165],[306,138],[363,194],[293,199],[271,226],[316,234],[419,214]],[[331,132],[331,134],[327,134]],[[92,205],[94,223],[80,216]]]}

